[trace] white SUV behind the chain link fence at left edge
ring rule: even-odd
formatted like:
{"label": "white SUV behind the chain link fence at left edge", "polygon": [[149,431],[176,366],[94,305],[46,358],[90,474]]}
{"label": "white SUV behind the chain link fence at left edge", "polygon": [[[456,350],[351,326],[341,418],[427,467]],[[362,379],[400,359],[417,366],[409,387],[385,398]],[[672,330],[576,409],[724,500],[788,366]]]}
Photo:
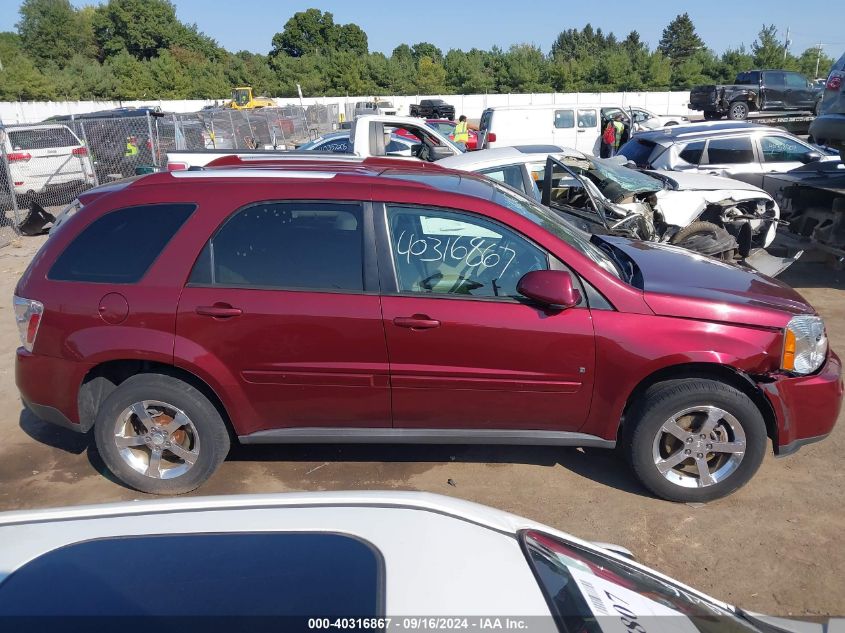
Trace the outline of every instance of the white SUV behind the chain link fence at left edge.
{"label": "white SUV behind the chain link fence at left edge", "polygon": [[0,143],[20,206],[54,191],[78,191],[95,184],[88,148],[66,125],[0,128]]}

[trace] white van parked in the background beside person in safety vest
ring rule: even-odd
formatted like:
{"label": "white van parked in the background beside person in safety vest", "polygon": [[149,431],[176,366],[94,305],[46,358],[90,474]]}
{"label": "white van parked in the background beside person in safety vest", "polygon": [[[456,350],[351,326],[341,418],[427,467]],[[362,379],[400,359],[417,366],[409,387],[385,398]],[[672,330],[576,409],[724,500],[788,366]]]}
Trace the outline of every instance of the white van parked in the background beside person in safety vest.
{"label": "white van parked in the background beside person in safety vest", "polygon": [[[598,156],[604,125],[619,112],[630,129],[624,110],[607,104],[494,106],[481,115],[478,149],[558,145]],[[626,136],[623,134],[623,141]]]}

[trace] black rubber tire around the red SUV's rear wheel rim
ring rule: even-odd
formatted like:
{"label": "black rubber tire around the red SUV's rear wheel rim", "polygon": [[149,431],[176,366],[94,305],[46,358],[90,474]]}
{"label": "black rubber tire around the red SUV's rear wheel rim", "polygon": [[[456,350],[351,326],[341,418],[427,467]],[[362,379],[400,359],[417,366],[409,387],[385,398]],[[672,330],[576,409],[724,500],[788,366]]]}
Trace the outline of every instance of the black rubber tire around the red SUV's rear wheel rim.
{"label": "black rubber tire around the red SUV's rear wheel rim", "polygon": [[[121,455],[121,449],[116,443],[115,429],[118,419],[133,403],[150,400],[167,403],[181,410],[192,424],[193,431],[188,437],[192,438],[193,432],[196,433],[197,438],[193,440],[196,461],[184,474],[169,479],[148,476],[133,468]],[[131,424],[137,427],[139,420],[135,420],[136,422]],[[178,432],[177,430],[176,433]],[[140,437],[144,432],[138,433]],[[186,382],[163,374],[140,374],[118,385],[97,412],[94,439],[100,456],[115,477],[136,490],[160,495],[183,494],[198,488],[223,463],[230,443],[226,424],[208,398]],[[149,446],[139,445],[133,447],[133,451],[137,450],[139,455],[144,452],[149,455]],[[162,447],[159,446],[158,450],[161,451]],[[163,450],[167,452],[170,449]],[[134,454],[136,453],[133,452]],[[176,458],[172,453],[167,453],[165,459],[187,465],[187,461]],[[165,464],[169,462],[165,461]]]}

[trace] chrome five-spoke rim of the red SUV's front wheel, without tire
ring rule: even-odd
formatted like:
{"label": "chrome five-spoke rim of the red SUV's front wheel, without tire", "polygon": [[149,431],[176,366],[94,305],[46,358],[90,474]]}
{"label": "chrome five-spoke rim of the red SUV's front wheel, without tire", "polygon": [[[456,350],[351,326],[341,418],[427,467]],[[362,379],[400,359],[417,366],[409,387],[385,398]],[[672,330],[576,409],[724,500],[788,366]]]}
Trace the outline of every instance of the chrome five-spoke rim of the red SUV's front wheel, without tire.
{"label": "chrome five-spoke rim of the red SUV's front wheel, without tire", "polygon": [[654,437],[654,465],[684,488],[705,488],[730,477],[745,456],[745,431],[724,409],[697,406],[679,411]]}

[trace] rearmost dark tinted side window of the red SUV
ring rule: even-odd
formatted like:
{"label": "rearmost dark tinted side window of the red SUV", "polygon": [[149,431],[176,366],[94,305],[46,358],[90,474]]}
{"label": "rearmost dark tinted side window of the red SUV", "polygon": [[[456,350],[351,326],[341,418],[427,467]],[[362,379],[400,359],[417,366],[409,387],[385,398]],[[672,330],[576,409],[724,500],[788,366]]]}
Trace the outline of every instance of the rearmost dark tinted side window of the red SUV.
{"label": "rearmost dark tinted side window of the red SUV", "polygon": [[56,281],[136,283],[194,209],[193,204],[151,204],[107,213],[76,236],[47,277]]}

